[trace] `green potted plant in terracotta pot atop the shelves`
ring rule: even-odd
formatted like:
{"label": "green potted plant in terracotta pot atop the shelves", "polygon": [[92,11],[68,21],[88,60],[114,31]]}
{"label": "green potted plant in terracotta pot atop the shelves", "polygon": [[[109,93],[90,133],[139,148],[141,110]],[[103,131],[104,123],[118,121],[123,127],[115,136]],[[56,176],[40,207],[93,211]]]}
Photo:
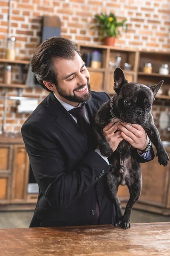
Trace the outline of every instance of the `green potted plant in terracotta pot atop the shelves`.
{"label": "green potted plant in terracotta pot atop the shelves", "polygon": [[125,24],[126,20],[118,22],[113,13],[107,15],[101,12],[101,14],[95,15],[95,20],[97,21],[97,24],[91,27],[91,29],[99,29],[99,40],[104,40],[106,45],[114,45],[116,36],[120,35],[120,31],[118,29],[120,26],[125,26],[125,32],[127,32],[127,24]]}

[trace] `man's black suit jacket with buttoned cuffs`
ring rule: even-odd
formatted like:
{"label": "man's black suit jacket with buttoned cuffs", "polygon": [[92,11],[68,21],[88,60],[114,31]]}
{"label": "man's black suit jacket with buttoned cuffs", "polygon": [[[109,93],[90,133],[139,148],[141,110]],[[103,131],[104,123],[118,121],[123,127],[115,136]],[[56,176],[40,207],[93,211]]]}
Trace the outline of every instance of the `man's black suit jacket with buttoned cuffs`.
{"label": "man's black suit jacket with buttoned cuffs", "polygon": [[[94,114],[108,99],[106,93],[92,92],[86,105],[91,125]],[[110,166],[89,150],[85,135],[53,93],[28,117],[21,132],[39,185],[30,227],[96,224],[96,202],[98,223],[113,224],[115,212],[105,175]],[[139,161],[145,162],[141,157]]]}

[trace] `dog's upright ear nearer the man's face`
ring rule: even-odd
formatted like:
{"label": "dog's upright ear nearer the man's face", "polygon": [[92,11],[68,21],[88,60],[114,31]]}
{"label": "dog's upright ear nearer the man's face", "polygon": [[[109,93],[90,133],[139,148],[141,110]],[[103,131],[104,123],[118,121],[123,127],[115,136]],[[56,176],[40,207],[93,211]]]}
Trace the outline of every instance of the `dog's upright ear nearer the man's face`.
{"label": "dog's upright ear nearer the man's face", "polygon": [[125,79],[123,70],[117,67],[114,71],[114,90],[117,94],[119,94],[119,90],[122,88],[123,84],[125,84],[127,80]]}

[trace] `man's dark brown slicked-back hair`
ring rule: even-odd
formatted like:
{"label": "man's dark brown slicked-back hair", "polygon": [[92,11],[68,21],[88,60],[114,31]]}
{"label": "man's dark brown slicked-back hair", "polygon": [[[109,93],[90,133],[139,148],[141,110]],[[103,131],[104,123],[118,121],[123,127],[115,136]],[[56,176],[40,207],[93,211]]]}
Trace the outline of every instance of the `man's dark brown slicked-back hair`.
{"label": "man's dark brown slicked-back hair", "polygon": [[80,55],[79,50],[71,40],[57,36],[46,39],[35,50],[31,59],[31,70],[45,90],[51,92],[43,84],[43,81],[51,82],[57,86],[57,74],[53,68],[54,58],[73,60],[75,51]]}

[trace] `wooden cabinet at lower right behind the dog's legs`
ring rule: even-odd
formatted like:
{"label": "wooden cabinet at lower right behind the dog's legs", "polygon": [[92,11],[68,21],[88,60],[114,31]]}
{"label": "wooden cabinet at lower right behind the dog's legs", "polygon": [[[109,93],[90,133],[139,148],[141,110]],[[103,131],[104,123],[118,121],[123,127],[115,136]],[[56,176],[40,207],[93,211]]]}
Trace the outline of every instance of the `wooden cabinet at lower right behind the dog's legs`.
{"label": "wooden cabinet at lower right behind the dog's legs", "polygon": [[[165,148],[170,157],[170,148]],[[156,151],[155,151],[156,155]],[[158,163],[158,157],[142,163],[142,192],[135,209],[170,215],[170,162],[167,166]],[[119,186],[119,199],[125,207],[129,199],[127,186]]]}

